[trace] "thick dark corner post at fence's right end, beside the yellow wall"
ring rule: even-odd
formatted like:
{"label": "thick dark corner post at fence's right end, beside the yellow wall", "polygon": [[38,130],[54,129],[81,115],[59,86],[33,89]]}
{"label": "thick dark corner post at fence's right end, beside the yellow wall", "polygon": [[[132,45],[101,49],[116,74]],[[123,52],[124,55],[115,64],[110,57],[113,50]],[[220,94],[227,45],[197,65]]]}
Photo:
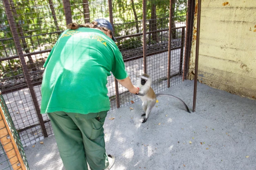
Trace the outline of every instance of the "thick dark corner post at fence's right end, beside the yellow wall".
{"label": "thick dark corner post at fence's right end, beside the yellow wall", "polygon": [[186,23],[186,42],[185,42],[185,57],[184,57],[184,72],[183,77],[187,79],[188,76],[188,65],[190,58],[190,51],[193,37],[193,21],[195,11],[195,0],[188,0],[188,12],[187,12],[187,23]]}

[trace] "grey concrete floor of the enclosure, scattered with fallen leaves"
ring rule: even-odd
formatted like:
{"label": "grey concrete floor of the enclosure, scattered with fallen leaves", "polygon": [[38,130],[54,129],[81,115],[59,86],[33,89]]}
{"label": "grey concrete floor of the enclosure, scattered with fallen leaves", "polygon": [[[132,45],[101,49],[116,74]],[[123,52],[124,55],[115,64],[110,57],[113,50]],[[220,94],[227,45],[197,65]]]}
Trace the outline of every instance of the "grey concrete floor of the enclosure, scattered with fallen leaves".
{"label": "grey concrete floor of the enclosure, scattered with fallen leaves", "polygon": [[[180,97],[192,110],[193,81],[164,93]],[[174,99],[158,100],[145,124],[141,101],[108,114],[104,129],[106,151],[116,156],[113,170],[256,169],[255,100],[200,83],[195,113]],[[42,141],[24,148],[31,170],[64,169],[54,136]]]}

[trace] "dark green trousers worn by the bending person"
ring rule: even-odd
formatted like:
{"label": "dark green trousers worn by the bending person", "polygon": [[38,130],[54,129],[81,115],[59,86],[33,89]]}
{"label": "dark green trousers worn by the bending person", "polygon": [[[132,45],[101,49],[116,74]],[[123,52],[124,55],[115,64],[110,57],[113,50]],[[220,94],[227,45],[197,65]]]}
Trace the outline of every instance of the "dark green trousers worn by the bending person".
{"label": "dark green trousers worn by the bending person", "polygon": [[103,124],[107,111],[48,113],[66,170],[104,170],[109,166]]}

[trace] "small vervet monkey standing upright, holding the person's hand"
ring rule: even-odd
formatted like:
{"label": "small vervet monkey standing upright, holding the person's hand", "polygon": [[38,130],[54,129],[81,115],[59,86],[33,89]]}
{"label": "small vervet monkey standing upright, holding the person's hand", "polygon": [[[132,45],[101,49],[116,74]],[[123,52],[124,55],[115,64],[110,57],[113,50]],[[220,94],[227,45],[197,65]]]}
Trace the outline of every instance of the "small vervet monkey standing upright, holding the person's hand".
{"label": "small vervet monkey standing upright, holding the person's hand", "polygon": [[145,118],[142,120],[142,123],[145,123],[147,121],[152,108],[156,104],[158,96],[169,96],[169,97],[178,99],[179,101],[181,101],[181,103],[184,104],[188,113],[190,113],[188,106],[180,98],[177,98],[171,94],[163,94],[163,93],[155,94],[155,92],[151,88],[151,83],[152,83],[151,77],[147,74],[142,74],[136,84],[136,86],[140,88],[140,92],[137,95],[141,98],[142,109],[145,112],[144,114],[141,115],[141,116],[145,116]]}

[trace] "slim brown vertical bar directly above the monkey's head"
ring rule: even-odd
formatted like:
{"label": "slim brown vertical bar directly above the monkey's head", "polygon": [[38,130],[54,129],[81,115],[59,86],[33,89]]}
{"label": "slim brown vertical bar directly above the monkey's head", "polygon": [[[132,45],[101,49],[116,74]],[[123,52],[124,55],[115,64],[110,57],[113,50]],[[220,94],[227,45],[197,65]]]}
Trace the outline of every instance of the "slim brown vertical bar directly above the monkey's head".
{"label": "slim brown vertical bar directly above the monkey's head", "polygon": [[144,73],[147,74],[147,0],[142,0],[142,24],[143,24],[143,64],[144,64]]}

